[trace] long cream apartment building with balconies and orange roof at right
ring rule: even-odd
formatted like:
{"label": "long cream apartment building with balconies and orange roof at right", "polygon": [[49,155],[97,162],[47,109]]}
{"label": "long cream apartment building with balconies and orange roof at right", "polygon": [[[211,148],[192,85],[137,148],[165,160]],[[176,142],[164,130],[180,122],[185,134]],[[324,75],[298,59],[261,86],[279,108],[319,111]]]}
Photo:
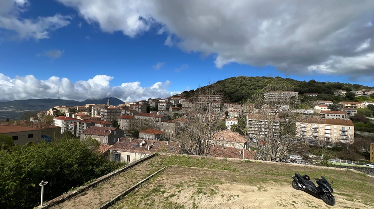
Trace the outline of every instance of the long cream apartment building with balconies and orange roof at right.
{"label": "long cream apartment building with balconies and orange roof at right", "polygon": [[351,120],[309,118],[296,122],[296,128],[296,137],[311,144],[326,143],[332,146],[354,142],[355,130]]}

